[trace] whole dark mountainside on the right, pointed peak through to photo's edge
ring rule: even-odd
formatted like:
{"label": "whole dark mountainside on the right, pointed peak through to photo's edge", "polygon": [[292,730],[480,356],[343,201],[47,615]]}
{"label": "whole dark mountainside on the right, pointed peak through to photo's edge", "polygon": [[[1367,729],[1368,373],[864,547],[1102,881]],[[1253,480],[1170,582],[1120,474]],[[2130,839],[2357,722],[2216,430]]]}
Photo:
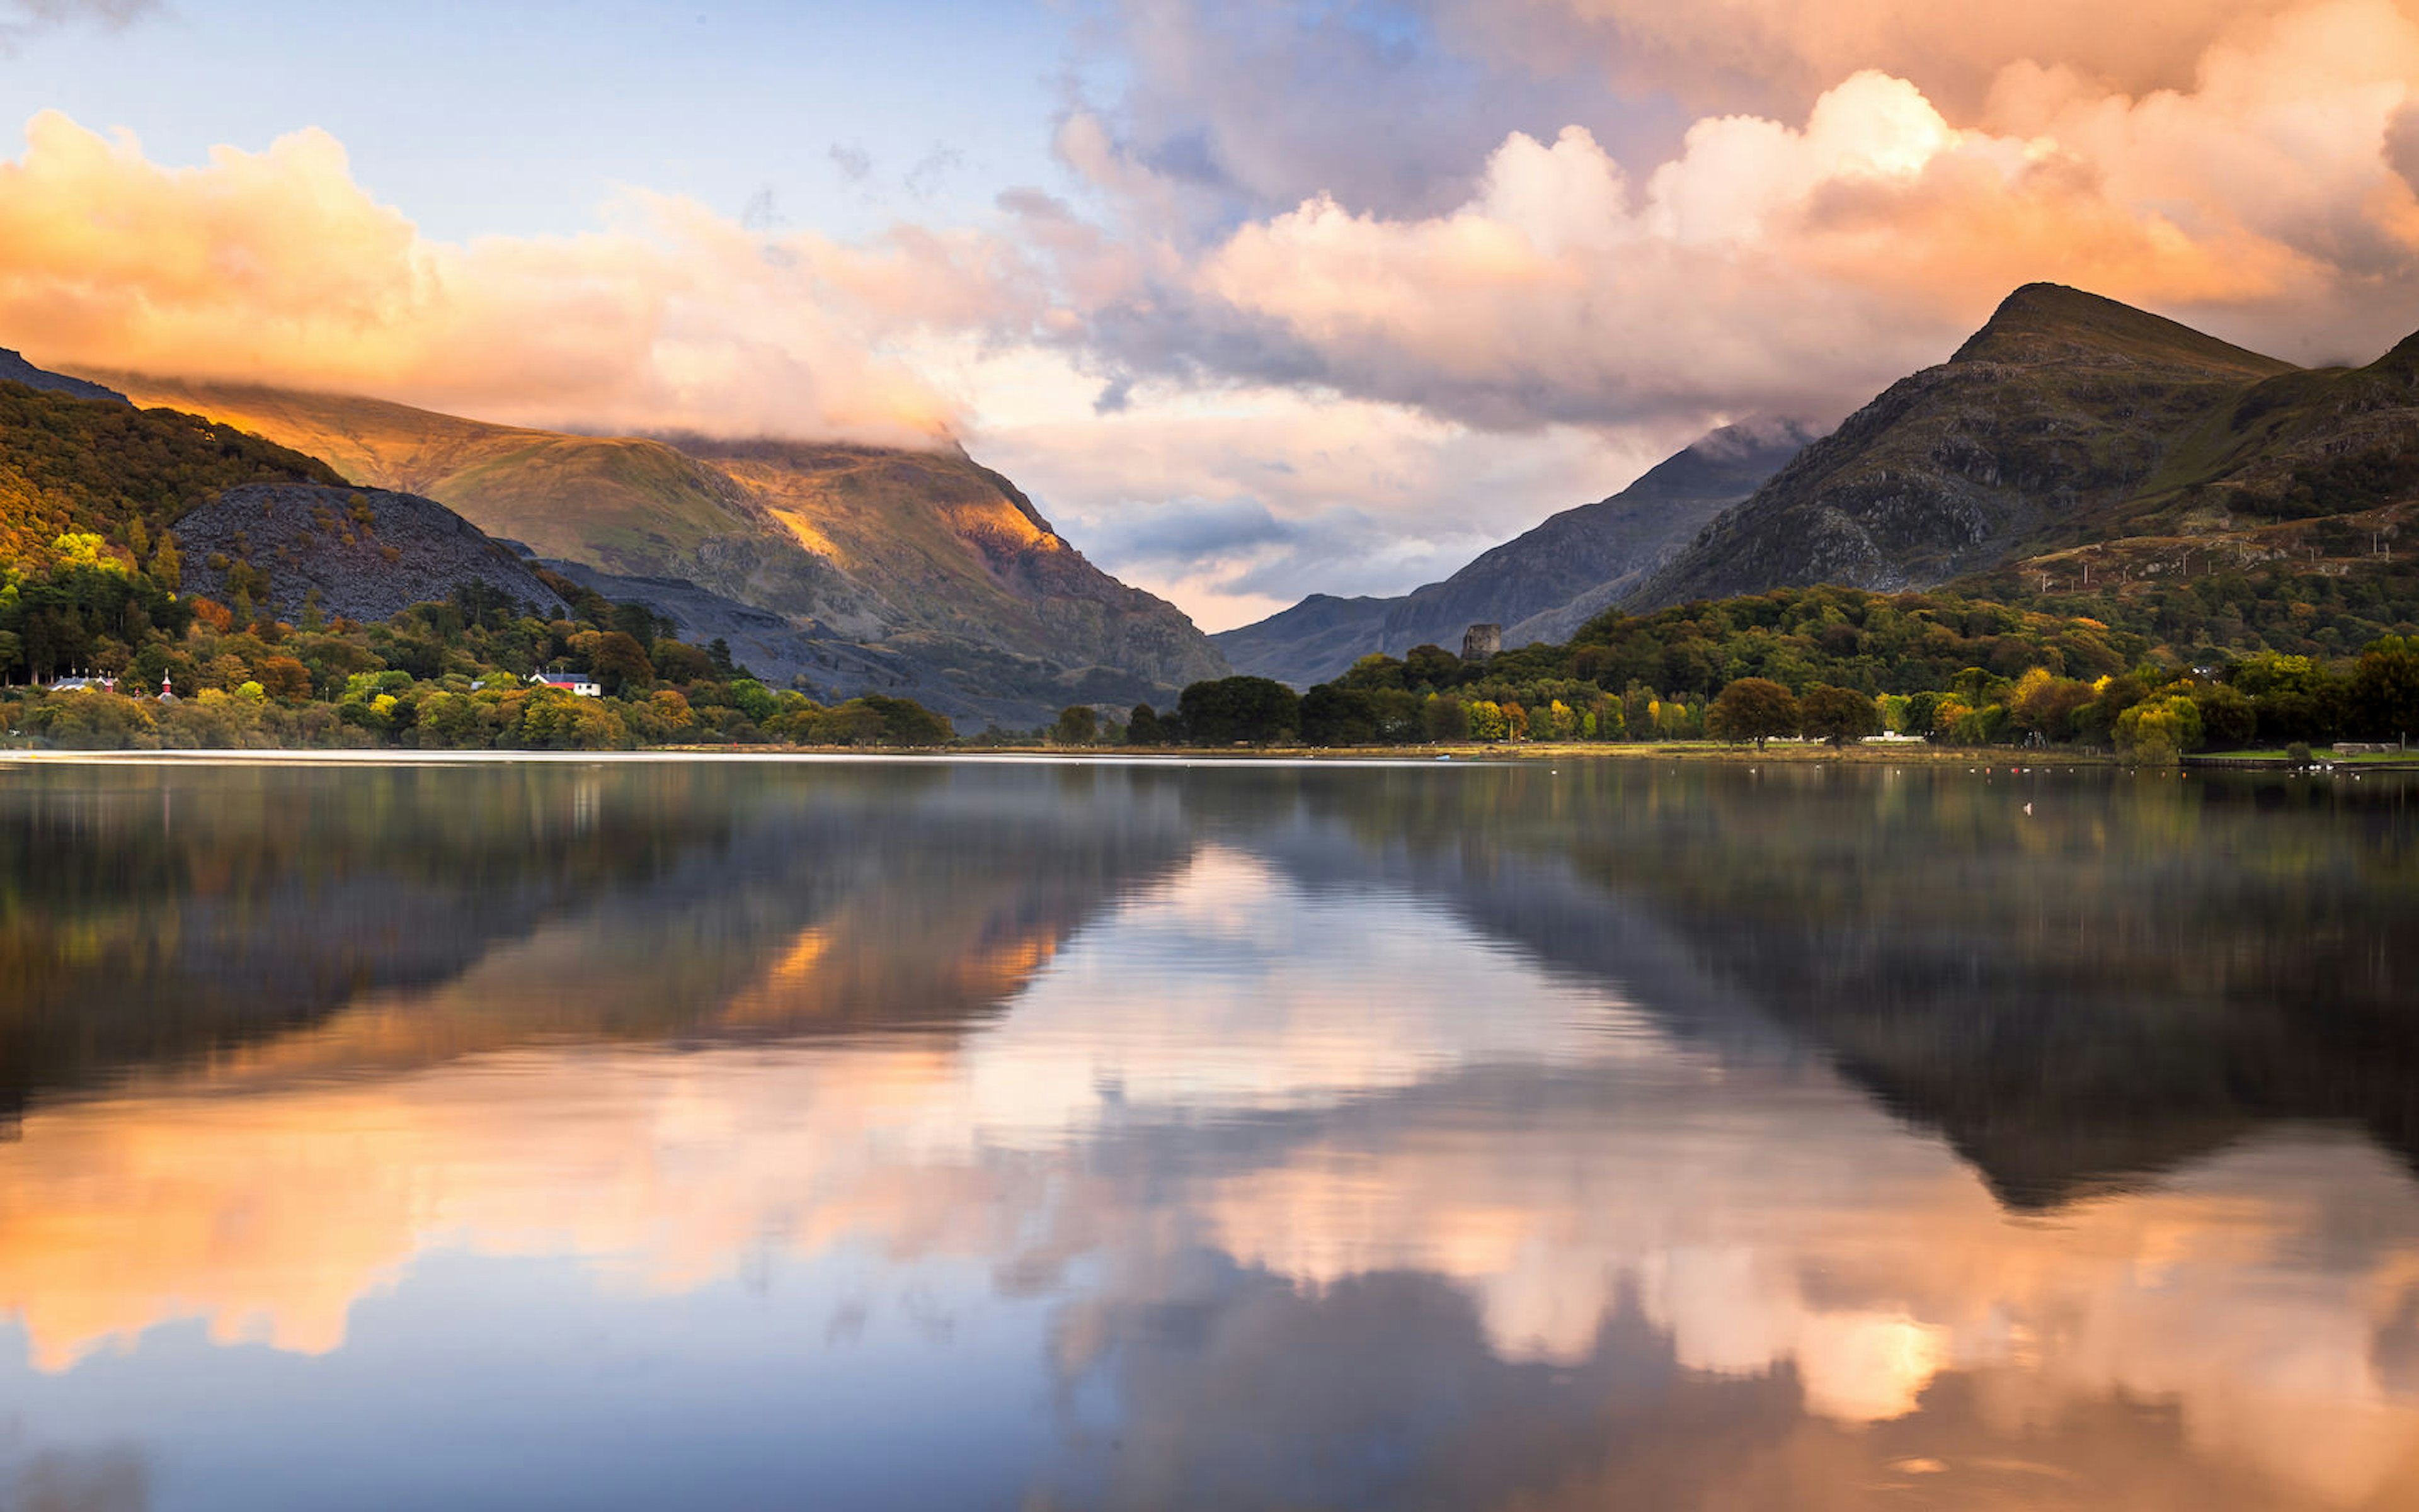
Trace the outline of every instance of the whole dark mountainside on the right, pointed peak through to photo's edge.
{"label": "whole dark mountainside on the right, pointed peak through to photo's edge", "polygon": [[[1662,607],[1802,583],[1928,588],[1993,569],[2177,571],[2177,549],[2293,559],[2279,520],[2402,523],[2419,484],[2407,346],[2303,373],[2034,283],[1892,385],[1626,595]],[[2158,559],[2165,559],[2163,566]],[[2204,556],[2206,561],[2206,556]]]}

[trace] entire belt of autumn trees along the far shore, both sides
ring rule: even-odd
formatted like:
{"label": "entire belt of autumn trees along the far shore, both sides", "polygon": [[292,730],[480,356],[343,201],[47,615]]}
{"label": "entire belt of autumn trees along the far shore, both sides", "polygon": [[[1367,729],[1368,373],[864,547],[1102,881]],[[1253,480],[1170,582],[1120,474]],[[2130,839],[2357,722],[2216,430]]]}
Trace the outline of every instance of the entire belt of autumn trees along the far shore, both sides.
{"label": "entire belt of autumn trees along the far shore, both sides", "polygon": [[[63,532],[0,581],[0,680],[63,670],[119,694],[0,689],[0,731],[77,748],[402,745],[946,745],[948,721],[881,694],[825,706],[772,689],[726,648],[687,646],[639,605],[547,576],[571,619],[464,585],[387,624],[249,622],[174,595],[152,547]],[[2155,612],[2155,610],[2153,610]],[[2303,614],[2308,624],[2313,614]],[[2206,660],[2201,660],[2206,656]],[[530,687],[590,673],[602,699]],[[167,680],[179,694],[155,694]],[[145,697],[133,697],[145,694]],[[2148,629],[1955,595],[1788,588],[1589,622],[1568,646],[1483,663],[1418,646],[1369,656],[1304,694],[1268,677],[1183,689],[1173,709],[1072,706],[1050,731],[1093,745],[1422,745],[1522,740],[1848,743],[1894,731],[1950,745],[2085,745],[2136,760],[2250,745],[2402,740],[2419,731],[2419,639],[2349,656],[2204,648]]]}

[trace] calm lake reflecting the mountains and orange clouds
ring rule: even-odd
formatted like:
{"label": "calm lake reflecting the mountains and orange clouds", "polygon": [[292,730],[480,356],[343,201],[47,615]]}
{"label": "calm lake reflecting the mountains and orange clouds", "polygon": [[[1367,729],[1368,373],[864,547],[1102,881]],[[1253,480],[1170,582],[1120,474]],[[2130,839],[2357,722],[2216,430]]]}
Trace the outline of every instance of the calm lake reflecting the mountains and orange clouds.
{"label": "calm lake reflecting the mountains and orange clouds", "polygon": [[2412,1507],[2419,786],[0,764],[0,1507]]}

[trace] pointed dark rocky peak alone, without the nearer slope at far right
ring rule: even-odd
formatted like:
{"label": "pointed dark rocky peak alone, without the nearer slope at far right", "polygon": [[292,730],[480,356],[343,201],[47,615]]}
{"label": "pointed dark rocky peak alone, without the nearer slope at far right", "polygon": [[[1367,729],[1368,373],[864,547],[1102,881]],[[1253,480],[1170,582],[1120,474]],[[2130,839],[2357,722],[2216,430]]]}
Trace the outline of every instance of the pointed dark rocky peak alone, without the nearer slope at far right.
{"label": "pointed dark rocky peak alone, without the nearer slope at far right", "polygon": [[[1947,363],[1892,385],[1713,520],[1626,605],[1800,583],[1928,588],[2078,542],[2221,525],[2184,486],[2257,491],[2288,414],[2339,435],[2327,387],[2172,319],[2030,283]],[[2175,477],[2192,457],[2206,467]]]}

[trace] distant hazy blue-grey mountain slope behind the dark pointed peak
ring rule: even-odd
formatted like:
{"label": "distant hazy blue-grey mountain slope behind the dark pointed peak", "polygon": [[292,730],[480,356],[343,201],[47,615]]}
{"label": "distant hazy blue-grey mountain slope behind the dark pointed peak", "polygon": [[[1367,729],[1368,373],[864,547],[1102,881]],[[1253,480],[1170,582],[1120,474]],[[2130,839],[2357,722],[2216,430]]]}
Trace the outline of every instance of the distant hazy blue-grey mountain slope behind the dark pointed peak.
{"label": "distant hazy blue-grey mountain slope behind the dark pointed peak", "polygon": [[1210,639],[1239,670],[1297,685],[1333,677],[1372,651],[1459,648],[1471,624],[1502,624],[1505,646],[1568,641],[1809,440],[1800,426],[1725,426],[1621,494],[1551,515],[1442,583],[1398,598],[1316,593]]}

